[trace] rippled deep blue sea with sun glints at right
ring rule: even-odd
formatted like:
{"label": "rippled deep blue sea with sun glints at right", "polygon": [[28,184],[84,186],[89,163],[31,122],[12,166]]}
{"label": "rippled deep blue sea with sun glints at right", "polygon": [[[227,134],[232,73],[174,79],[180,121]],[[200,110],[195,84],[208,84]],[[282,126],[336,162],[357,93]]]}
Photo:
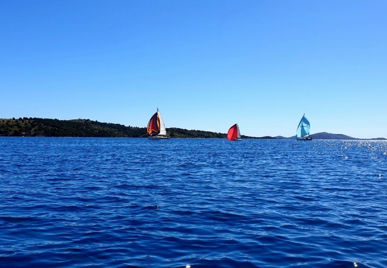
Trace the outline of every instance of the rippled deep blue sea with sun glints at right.
{"label": "rippled deep blue sea with sun glints at right", "polygon": [[0,137],[1,267],[387,267],[387,142]]}

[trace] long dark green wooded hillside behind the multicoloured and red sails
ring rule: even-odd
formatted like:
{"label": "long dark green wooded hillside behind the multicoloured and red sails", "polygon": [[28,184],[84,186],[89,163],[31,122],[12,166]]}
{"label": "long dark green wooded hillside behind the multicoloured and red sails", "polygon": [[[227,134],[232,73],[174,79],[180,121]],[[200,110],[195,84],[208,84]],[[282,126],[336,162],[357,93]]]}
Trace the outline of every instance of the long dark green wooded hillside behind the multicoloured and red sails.
{"label": "long dark green wooded hillside behind the multicoloured and red sails", "polygon": [[[167,128],[171,138],[226,138],[225,133]],[[148,137],[146,127],[132,127],[103,123],[89,119],[58,120],[23,117],[0,119],[0,136],[8,137]],[[250,137],[242,139],[275,139],[274,137]]]}

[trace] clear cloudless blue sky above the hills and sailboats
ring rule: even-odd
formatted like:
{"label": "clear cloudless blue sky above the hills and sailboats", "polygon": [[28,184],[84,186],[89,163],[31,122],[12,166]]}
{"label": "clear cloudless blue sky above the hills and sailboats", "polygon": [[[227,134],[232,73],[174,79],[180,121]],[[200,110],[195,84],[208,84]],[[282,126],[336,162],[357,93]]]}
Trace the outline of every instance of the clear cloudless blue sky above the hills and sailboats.
{"label": "clear cloudless blue sky above the hills and sailboats", "polygon": [[387,137],[387,1],[0,1],[0,118]]}

